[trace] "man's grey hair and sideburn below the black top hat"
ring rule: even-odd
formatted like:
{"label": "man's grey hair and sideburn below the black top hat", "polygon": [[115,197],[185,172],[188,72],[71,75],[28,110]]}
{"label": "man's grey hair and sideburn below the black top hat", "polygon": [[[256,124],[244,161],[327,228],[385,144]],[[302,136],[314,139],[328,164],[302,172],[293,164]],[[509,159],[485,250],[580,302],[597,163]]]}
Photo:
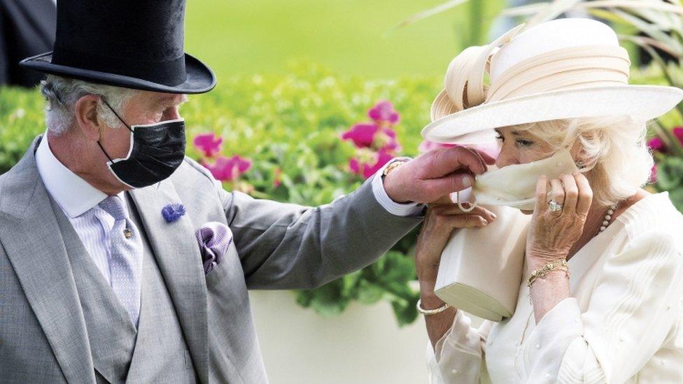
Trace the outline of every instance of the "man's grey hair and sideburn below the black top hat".
{"label": "man's grey hair and sideburn below the black top hat", "polygon": [[[75,121],[74,108],[76,101],[86,94],[104,97],[106,102],[121,115],[123,107],[137,94],[138,90],[88,83],[73,78],[48,75],[41,81],[41,93],[45,97],[45,125],[48,131],[57,136],[64,134]],[[97,114],[110,127],[123,127],[123,123],[101,99],[97,101]]]}

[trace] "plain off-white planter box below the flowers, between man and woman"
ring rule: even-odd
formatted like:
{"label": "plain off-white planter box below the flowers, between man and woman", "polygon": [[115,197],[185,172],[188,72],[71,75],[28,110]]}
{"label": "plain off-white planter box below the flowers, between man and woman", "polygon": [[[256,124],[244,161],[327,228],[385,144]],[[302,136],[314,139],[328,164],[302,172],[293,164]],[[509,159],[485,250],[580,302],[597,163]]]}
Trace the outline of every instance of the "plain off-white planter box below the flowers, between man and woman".
{"label": "plain off-white planter box below the flowers, between man and woman", "polygon": [[251,307],[274,384],[426,383],[424,319],[399,328],[386,302],[323,318],[292,292],[253,291]]}

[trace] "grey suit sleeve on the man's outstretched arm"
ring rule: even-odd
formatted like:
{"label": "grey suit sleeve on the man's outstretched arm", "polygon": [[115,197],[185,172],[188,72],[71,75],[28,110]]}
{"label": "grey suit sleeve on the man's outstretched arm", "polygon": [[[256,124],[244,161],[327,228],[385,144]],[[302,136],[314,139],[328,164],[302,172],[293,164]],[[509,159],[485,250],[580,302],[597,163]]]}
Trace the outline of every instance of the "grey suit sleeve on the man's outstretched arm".
{"label": "grey suit sleeve on the man's outstretched arm", "polygon": [[247,287],[318,287],[372,264],[423,220],[389,213],[372,180],[318,207],[254,199],[216,181]]}

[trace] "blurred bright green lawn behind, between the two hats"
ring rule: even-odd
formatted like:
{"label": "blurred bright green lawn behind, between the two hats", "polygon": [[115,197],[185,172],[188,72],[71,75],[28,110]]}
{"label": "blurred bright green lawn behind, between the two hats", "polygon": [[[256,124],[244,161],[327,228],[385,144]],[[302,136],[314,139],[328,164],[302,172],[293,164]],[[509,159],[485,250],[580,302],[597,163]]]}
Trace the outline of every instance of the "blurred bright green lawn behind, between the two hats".
{"label": "blurred bright green lawn behind, between the two hats", "polygon": [[[236,74],[285,73],[290,59],[302,58],[341,75],[443,76],[462,41],[472,37],[469,4],[392,31],[409,15],[442,2],[192,0],[185,48],[216,71],[219,87]],[[502,6],[502,0],[475,2],[484,13],[477,23],[488,24]]]}

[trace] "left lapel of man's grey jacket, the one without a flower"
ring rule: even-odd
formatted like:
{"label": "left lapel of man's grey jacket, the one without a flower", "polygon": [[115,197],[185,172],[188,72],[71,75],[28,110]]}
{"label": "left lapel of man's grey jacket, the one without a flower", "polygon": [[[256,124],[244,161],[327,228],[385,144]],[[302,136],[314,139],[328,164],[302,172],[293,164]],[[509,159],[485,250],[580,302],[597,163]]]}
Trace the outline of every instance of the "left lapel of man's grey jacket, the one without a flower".
{"label": "left lapel of man's grey jacket, the one without a flower", "polygon": [[1,185],[0,240],[66,381],[94,383],[83,311],[64,239],[36,168],[38,141]]}

